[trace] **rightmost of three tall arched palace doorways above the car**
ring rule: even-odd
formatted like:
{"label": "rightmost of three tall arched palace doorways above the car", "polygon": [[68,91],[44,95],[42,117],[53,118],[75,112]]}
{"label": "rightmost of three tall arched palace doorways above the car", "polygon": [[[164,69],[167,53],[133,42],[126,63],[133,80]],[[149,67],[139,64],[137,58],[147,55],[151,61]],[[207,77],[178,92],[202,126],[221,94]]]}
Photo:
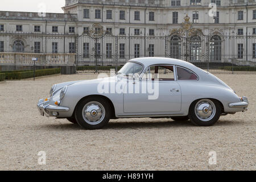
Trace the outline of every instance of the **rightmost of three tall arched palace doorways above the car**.
{"label": "rightmost of three tall arched palace doorways above the car", "polygon": [[221,61],[221,48],[221,37],[218,35],[212,36],[210,38],[210,61]]}

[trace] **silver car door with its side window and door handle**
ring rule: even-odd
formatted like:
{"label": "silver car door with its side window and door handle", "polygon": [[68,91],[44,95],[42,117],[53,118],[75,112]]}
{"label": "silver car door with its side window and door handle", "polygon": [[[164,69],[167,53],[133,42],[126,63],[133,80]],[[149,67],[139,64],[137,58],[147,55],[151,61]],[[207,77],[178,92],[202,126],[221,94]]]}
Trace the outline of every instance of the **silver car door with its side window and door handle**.
{"label": "silver car door with its side window and door handle", "polygon": [[[153,65],[148,68],[140,80],[133,80],[132,84],[127,84],[134,92],[123,94],[124,113],[175,113],[180,111],[181,90],[175,75],[175,67],[172,65]],[[136,93],[136,90],[140,92]]]}

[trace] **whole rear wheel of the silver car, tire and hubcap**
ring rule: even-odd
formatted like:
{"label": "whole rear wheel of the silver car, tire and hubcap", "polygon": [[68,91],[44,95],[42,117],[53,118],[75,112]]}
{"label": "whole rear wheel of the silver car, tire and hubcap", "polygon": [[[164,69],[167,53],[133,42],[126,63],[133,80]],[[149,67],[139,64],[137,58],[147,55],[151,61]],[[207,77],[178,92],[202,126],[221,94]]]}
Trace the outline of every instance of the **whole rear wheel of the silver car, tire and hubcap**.
{"label": "whole rear wheel of the silver car, tire and hubcap", "polygon": [[189,108],[189,119],[196,126],[212,126],[220,115],[221,105],[216,100],[197,100]]}

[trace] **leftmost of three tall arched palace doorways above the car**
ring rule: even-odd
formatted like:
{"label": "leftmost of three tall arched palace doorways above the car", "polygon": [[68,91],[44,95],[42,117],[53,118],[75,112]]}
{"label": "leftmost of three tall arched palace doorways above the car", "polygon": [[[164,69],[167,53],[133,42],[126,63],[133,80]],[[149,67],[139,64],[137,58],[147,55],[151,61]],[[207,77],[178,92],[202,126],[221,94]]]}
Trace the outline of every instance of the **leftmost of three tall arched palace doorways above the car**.
{"label": "leftmost of three tall arched palace doorways above the car", "polygon": [[181,40],[177,35],[171,37],[170,57],[175,59],[181,58]]}

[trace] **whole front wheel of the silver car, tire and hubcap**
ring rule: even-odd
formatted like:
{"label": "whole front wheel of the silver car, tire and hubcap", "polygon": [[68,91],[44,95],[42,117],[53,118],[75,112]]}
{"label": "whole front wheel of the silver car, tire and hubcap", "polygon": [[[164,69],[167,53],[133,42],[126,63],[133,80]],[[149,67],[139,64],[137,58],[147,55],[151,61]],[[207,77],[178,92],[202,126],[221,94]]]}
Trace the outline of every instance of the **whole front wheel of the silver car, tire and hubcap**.
{"label": "whole front wheel of the silver car, tire and hubcap", "polygon": [[76,109],[77,123],[84,129],[101,129],[110,120],[110,106],[104,98],[86,98]]}

